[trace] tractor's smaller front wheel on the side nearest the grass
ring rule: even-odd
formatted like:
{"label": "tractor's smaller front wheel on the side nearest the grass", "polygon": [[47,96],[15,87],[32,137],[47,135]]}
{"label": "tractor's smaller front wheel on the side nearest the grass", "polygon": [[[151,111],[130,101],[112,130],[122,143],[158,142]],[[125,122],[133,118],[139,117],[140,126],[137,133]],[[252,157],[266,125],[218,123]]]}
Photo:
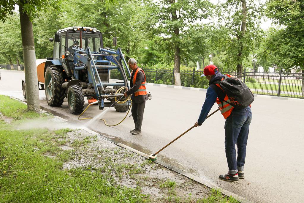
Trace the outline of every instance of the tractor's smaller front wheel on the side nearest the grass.
{"label": "tractor's smaller front wheel on the side nearest the grass", "polygon": [[72,114],[81,114],[85,107],[82,89],[78,85],[71,85],[67,90],[67,104]]}

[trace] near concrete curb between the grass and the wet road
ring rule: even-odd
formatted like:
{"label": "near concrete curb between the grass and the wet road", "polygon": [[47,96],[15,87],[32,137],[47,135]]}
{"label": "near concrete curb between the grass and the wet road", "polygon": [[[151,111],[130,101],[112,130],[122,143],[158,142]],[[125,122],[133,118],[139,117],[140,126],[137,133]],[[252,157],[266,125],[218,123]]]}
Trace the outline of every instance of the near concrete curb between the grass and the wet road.
{"label": "near concrete curb between the grass and the wet road", "polygon": [[[21,101],[21,100],[15,98],[15,97],[11,97],[11,98],[12,98],[12,99],[15,99],[15,100],[18,100],[18,101],[20,101],[20,102],[22,102],[22,103],[24,103],[24,104],[27,104],[26,102]],[[42,110],[42,109],[40,110],[40,112],[41,112],[41,113],[50,114],[50,113],[47,112],[46,110]],[[57,117],[57,118],[59,118],[59,119],[62,120],[62,121],[67,121],[66,119],[61,118],[61,117],[59,117],[59,116],[55,116],[55,115],[54,115],[54,117]],[[143,156],[143,157],[149,159],[149,155],[147,155],[146,153],[140,152],[140,151],[138,151],[137,149],[134,149],[134,148],[132,148],[132,147],[129,147],[129,146],[124,145],[124,144],[119,143],[119,142],[114,142],[114,141],[112,141],[111,139],[109,139],[109,138],[107,138],[107,137],[105,137],[105,136],[103,136],[103,135],[101,135],[101,134],[99,134],[99,133],[97,133],[97,132],[95,132],[95,131],[92,131],[92,130],[90,130],[90,129],[88,129],[88,128],[83,128],[83,127],[82,127],[82,128],[79,128],[79,129],[83,129],[83,130],[85,130],[85,131],[87,131],[87,132],[89,132],[89,133],[91,133],[91,134],[93,134],[93,135],[99,135],[100,137],[102,137],[103,139],[105,139],[105,140],[107,140],[107,141],[109,141],[109,142],[112,142],[112,143],[114,143],[114,144],[116,144],[116,145],[118,145],[118,146],[120,146],[120,147],[122,147],[122,148],[128,149],[128,150],[130,150],[130,151],[132,151],[132,152],[134,152],[134,153],[136,153],[136,154],[139,154],[139,155],[141,155],[141,156]],[[178,169],[178,168],[176,168],[176,167],[174,167],[174,166],[171,166],[171,165],[169,165],[169,164],[167,164],[167,163],[164,163],[164,162],[162,162],[162,161],[160,161],[160,160],[155,160],[155,162],[158,163],[158,164],[160,164],[160,165],[162,165],[162,166],[164,166],[164,167],[166,167],[166,168],[168,168],[169,170],[172,170],[172,171],[174,171],[174,172],[176,172],[176,173],[180,173],[181,175],[183,175],[183,176],[185,176],[185,177],[187,177],[187,178],[189,178],[189,179],[195,180],[196,182],[198,182],[198,183],[200,183],[200,184],[203,184],[203,185],[205,185],[206,187],[208,187],[208,188],[210,188],[210,189],[212,189],[212,188],[217,189],[217,190],[221,191],[222,194],[224,194],[224,195],[226,195],[226,196],[228,196],[228,197],[231,196],[231,197],[235,198],[237,201],[240,201],[241,203],[253,203],[252,201],[249,201],[249,200],[247,200],[246,198],[243,198],[243,197],[241,197],[241,196],[239,196],[239,195],[237,195],[237,194],[234,194],[234,193],[232,193],[232,192],[230,192],[230,191],[224,190],[224,189],[221,188],[221,187],[218,187],[218,186],[216,186],[216,185],[214,185],[214,184],[212,184],[212,183],[210,183],[210,182],[208,182],[208,181],[206,181],[206,180],[203,180],[203,179],[201,179],[201,178],[199,178],[199,177],[197,177],[197,176],[195,176],[195,175],[192,175],[192,174],[190,174],[190,173],[186,173],[186,172],[184,172],[184,171],[182,171],[182,170],[180,170],[180,169]]]}

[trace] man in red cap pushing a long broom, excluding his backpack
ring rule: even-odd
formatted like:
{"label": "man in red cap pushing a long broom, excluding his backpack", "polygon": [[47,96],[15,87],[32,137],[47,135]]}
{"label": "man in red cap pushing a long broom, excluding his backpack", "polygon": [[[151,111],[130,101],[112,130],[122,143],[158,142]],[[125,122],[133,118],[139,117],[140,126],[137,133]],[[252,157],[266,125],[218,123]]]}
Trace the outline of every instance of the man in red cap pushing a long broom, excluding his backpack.
{"label": "man in red cap pushing a long broom, excluding his backpack", "polygon": [[[226,119],[224,127],[225,151],[229,169],[227,174],[220,175],[219,178],[221,180],[239,182],[239,179],[244,178],[246,146],[252,117],[250,106],[238,110],[233,109],[233,106],[229,104],[233,101],[229,100],[227,94],[218,85],[224,75],[218,71],[215,65],[207,65],[204,68],[204,74],[201,76],[206,76],[207,80],[209,80],[209,87],[199,119],[195,122],[195,127],[202,125],[213,104],[216,102]],[[231,77],[231,75],[227,76]],[[235,144],[237,144],[237,157]]]}

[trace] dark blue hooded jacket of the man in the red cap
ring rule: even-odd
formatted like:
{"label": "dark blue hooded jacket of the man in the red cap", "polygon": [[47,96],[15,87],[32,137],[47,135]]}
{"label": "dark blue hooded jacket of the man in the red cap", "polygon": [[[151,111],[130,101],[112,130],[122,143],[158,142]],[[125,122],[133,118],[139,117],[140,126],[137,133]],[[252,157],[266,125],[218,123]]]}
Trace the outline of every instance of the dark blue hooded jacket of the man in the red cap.
{"label": "dark blue hooded jacket of the man in the red cap", "polygon": [[206,99],[202,106],[202,110],[201,110],[201,114],[199,115],[199,119],[197,120],[197,123],[199,125],[201,125],[205,121],[213,104],[216,101],[216,98],[218,97],[216,91],[210,85],[218,80],[221,80],[223,77],[224,77],[224,75],[222,73],[218,72],[215,75],[213,75],[211,80],[209,81],[209,87],[207,89]]}

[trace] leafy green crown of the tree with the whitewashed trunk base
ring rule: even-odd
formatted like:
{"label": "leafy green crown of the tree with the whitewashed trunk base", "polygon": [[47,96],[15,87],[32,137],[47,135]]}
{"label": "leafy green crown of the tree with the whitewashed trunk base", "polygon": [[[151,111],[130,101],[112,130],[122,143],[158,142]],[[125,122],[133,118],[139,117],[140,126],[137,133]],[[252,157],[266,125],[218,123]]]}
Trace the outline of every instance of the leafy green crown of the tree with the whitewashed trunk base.
{"label": "leafy green crown of the tree with the whitewashed trunk base", "polygon": [[206,0],[145,1],[147,17],[143,19],[143,28],[150,39],[159,36],[157,51],[163,54],[163,63],[174,61],[176,71],[180,72],[180,61],[206,50],[201,46],[205,44],[206,32],[195,21],[210,16],[212,7]]}

